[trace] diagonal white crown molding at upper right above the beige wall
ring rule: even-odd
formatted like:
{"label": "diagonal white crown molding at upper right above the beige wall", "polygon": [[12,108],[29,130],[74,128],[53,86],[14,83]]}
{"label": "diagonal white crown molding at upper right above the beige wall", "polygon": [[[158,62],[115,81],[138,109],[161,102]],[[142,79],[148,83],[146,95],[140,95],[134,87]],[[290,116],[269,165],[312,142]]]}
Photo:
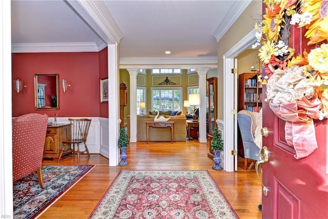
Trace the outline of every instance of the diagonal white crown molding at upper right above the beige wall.
{"label": "diagonal white crown molding at upper right above the beige wall", "polygon": [[[224,17],[223,21],[219,24],[213,33],[216,38],[216,42],[219,42],[224,34],[227,33],[229,28],[235,23],[236,19],[242,14],[242,12],[251,4],[252,0],[245,1],[235,1],[233,6],[229,9],[227,16]],[[233,14],[233,16],[228,16],[228,14]]]}

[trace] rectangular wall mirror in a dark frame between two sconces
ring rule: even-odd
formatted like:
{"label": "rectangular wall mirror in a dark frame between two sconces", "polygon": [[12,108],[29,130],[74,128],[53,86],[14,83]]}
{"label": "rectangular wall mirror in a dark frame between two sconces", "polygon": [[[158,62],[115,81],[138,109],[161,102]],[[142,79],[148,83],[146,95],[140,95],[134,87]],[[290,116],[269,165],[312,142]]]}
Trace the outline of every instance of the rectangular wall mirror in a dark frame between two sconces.
{"label": "rectangular wall mirror in a dark frame between two sconces", "polygon": [[34,74],[36,110],[59,109],[58,74]]}

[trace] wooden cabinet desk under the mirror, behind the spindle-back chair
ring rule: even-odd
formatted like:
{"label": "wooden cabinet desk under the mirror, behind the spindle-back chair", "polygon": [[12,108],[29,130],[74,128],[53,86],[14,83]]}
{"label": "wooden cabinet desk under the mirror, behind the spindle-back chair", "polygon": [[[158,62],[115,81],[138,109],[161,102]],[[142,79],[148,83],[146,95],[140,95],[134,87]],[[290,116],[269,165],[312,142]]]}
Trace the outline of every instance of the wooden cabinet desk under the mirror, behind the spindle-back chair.
{"label": "wooden cabinet desk under the mirror, behind the spindle-back chair", "polygon": [[70,137],[70,124],[57,124],[56,126],[48,126],[45,140],[45,150],[43,153],[44,160],[57,161],[61,149],[63,149],[63,141]]}

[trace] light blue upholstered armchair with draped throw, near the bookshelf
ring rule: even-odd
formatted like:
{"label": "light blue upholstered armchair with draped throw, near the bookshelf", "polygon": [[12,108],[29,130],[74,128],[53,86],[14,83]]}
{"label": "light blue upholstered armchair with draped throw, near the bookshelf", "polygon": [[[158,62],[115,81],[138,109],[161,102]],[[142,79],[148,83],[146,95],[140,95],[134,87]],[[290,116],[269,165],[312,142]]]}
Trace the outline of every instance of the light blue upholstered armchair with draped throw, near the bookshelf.
{"label": "light blue upholstered armchair with draped throw, near the bookshelf", "polygon": [[248,168],[249,159],[258,161],[262,148],[262,116],[259,112],[240,110],[237,113],[237,121],[244,148],[244,169]]}

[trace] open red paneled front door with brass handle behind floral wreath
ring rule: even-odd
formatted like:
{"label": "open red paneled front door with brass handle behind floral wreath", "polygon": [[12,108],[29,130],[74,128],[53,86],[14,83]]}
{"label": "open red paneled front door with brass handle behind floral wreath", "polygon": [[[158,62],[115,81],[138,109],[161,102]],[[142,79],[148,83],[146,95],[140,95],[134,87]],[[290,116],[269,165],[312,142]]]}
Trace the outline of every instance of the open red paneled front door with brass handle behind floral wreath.
{"label": "open red paneled front door with brass handle behind floral wreath", "polygon": [[[306,46],[302,35],[302,29],[291,31],[295,54]],[[267,87],[263,89],[266,98]],[[262,218],[328,218],[327,119],[314,121],[318,148],[300,160],[294,157],[294,147],[286,143],[285,122],[268,102],[263,102],[262,124],[268,130],[263,137],[268,162],[262,164]]]}

